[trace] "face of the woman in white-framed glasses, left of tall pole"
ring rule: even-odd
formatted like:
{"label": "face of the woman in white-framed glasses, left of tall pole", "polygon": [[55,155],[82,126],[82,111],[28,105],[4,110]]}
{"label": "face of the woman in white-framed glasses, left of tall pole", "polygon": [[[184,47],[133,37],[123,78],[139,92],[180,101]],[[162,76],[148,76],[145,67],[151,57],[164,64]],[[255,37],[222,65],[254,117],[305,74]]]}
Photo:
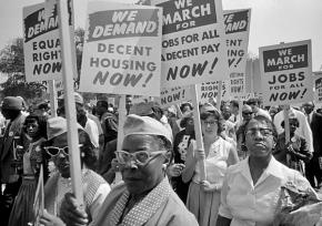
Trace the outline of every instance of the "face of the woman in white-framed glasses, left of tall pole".
{"label": "face of the woman in white-framed glasses, left of tall pole", "polygon": [[[53,138],[53,143],[51,146],[63,148],[68,146],[67,134],[61,134]],[[52,161],[60,172],[61,176],[64,178],[70,177],[70,163],[69,156],[63,152],[60,152],[57,156],[52,157]]]}

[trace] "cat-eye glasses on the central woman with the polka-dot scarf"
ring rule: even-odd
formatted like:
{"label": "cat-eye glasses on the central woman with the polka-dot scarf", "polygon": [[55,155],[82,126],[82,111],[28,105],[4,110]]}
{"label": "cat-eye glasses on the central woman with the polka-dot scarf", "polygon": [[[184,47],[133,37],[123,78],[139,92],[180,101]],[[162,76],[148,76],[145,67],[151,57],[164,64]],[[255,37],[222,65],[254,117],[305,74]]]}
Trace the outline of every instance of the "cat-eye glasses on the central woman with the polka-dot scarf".
{"label": "cat-eye glasses on the central woman with the polka-dot scarf", "polygon": [[117,158],[119,163],[127,164],[131,160],[134,160],[140,165],[144,165],[153,160],[155,156],[160,154],[165,154],[167,151],[157,151],[157,152],[149,152],[149,151],[139,151],[134,153],[129,153],[127,151],[117,151]]}

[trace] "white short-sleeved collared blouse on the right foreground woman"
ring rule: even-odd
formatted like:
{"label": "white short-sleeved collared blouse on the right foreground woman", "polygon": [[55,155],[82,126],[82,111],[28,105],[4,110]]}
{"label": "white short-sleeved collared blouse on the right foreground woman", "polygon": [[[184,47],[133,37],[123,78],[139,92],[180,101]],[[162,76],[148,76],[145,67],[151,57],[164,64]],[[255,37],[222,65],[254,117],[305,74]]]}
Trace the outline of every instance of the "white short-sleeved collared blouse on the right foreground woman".
{"label": "white short-sleeved collared blouse on the right foreground woman", "polygon": [[248,157],[229,167],[221,191],[219,214],[232,219],[231,226],[272,225],[281,186],[288,182],[313,191],[306,178],[273,156],[256,184],[253,184]]}

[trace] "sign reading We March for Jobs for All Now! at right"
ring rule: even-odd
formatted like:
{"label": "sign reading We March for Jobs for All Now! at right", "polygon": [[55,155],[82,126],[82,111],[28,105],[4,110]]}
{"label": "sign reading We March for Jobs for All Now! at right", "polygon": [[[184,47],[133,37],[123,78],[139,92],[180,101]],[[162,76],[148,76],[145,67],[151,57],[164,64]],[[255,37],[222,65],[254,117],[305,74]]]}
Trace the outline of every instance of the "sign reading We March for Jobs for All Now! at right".
{"label": "sign reading We March for Jobs for All Now! at right", "polygon": [[260,48],[260,70],[265,104],[313,100],[311,40]]}

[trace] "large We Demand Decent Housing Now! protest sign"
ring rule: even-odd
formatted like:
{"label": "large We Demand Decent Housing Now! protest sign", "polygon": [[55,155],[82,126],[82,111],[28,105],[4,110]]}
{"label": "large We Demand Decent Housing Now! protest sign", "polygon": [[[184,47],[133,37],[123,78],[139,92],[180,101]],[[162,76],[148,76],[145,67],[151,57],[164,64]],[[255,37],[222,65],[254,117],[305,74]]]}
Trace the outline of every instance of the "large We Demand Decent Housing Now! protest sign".
{"label": "large We Demand Decent Housing Now! protest sign", "polygon": [[81,92],[160,95],[162,9],[89,2]]}

